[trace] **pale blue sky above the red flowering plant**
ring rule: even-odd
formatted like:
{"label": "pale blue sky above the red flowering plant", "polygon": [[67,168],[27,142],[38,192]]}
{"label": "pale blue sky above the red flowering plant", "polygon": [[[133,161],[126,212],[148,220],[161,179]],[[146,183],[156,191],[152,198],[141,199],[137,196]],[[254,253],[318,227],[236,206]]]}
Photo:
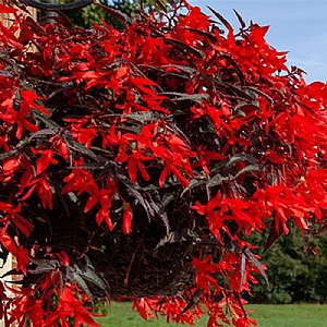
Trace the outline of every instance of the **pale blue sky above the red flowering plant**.
{"label": "pale blue sky above the red flowering plant", "polygon": [[304,70],[307,83],[327,82],[327,0],[190,0],[210,14],[218,11],[239,29],[233,9],[246,24],[269,25],[267,41],[279,51],[289,51],[287,65]]}

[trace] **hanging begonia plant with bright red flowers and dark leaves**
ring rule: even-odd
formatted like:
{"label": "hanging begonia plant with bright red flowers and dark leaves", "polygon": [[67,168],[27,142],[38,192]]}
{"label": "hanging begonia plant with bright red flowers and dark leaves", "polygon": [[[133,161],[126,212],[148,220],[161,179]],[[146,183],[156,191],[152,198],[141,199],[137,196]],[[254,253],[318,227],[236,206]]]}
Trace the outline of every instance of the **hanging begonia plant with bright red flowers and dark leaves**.
{"label": "hanging begonia plant with bright red flowers and dark leaves", "polygon": [[243,298],[267,276],[245,235],[267,230],[267,251],[292,223],[325,228],[326,85],[288,69],[267,26],[186,1],[114,12],[122,32],[0,11],[5,324],[97,326],[95,303],[123,298],[145,319],[204,304],[209,327],[253,325]]}

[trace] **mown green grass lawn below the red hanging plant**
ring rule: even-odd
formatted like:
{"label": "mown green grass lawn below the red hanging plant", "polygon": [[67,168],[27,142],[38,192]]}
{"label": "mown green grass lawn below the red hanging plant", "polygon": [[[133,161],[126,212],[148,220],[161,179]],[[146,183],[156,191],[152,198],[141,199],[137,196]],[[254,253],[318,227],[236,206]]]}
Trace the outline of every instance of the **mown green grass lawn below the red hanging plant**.
{"label": "mown green grass lawn below the red hanging plant", "polygon": [[[111,303],[109,314],[106,317],[97,318],[102,326],[109,327],[161,327],[161,326],[181,326],[166,324],[165,318],[143,320],[136,311],[131,310],[132,304]],[[246,305],[247,310],[256,312],[254,317],[259,327],[326,327],[327,326],[327,306],[313,304],[295,305]],[[195,323],[197,327],[205,327],[206,317]]]}

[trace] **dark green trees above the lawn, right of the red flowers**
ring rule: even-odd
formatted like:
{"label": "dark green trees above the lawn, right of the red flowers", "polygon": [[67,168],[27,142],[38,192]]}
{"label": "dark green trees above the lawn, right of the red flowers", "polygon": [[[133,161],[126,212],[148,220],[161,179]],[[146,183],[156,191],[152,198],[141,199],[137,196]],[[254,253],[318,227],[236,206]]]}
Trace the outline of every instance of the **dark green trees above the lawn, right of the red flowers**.
{"label": "dark green trees above the lawn, right of the red flowers", "polygon": [[[251,242],[264,250],[267,232],[255,234]],[[320,234],[311,240],[307,249],[303,235],[296,228],[280,239],[263,255],[268,267],[269,286],[253,287],[252,303],[326,303],[327,302],[327,237]]]}

